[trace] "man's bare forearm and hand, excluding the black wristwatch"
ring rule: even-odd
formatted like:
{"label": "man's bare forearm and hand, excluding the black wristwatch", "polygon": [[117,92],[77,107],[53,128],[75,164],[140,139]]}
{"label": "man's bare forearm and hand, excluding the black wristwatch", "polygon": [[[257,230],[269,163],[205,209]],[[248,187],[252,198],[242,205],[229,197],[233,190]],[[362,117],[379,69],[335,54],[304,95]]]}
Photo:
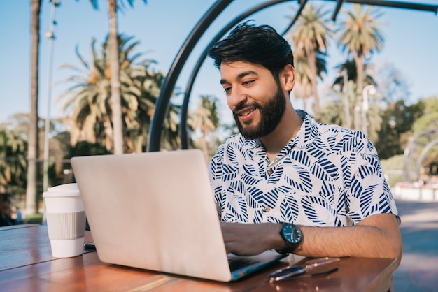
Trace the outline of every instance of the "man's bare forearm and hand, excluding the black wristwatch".
{"label": "man's bare forearm and hand, excluding the black wristwatch", "polygon": [[[227,252],[253,256],[268,249],[284,249],[282,224],[221,222]],[[394,214],[374,214],[357,226],[316,227],[299,225],[303,233],[294,254],[312,258],[358,256],[397,258],[402,256],[402,236]]]}

